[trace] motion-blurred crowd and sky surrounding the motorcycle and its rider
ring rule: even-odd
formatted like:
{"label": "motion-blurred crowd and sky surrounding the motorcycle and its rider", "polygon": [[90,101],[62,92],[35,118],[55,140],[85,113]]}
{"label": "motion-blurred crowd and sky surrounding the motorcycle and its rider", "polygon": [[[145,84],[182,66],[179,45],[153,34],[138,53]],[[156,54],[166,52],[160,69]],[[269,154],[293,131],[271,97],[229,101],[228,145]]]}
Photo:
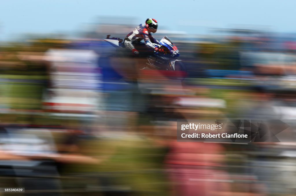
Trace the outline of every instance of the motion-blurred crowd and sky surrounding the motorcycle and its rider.
{"label": "motion-blurred crowd and sky surrounding the motorcycle and its rider", "polygon": [[[176,141],[177,119],[295,119],[294,1],[1,4],[0,187],[296,195],[295,127],[290,142]],[[185,78],[113,61],[106,35],[123,39],[150,17]]]}

